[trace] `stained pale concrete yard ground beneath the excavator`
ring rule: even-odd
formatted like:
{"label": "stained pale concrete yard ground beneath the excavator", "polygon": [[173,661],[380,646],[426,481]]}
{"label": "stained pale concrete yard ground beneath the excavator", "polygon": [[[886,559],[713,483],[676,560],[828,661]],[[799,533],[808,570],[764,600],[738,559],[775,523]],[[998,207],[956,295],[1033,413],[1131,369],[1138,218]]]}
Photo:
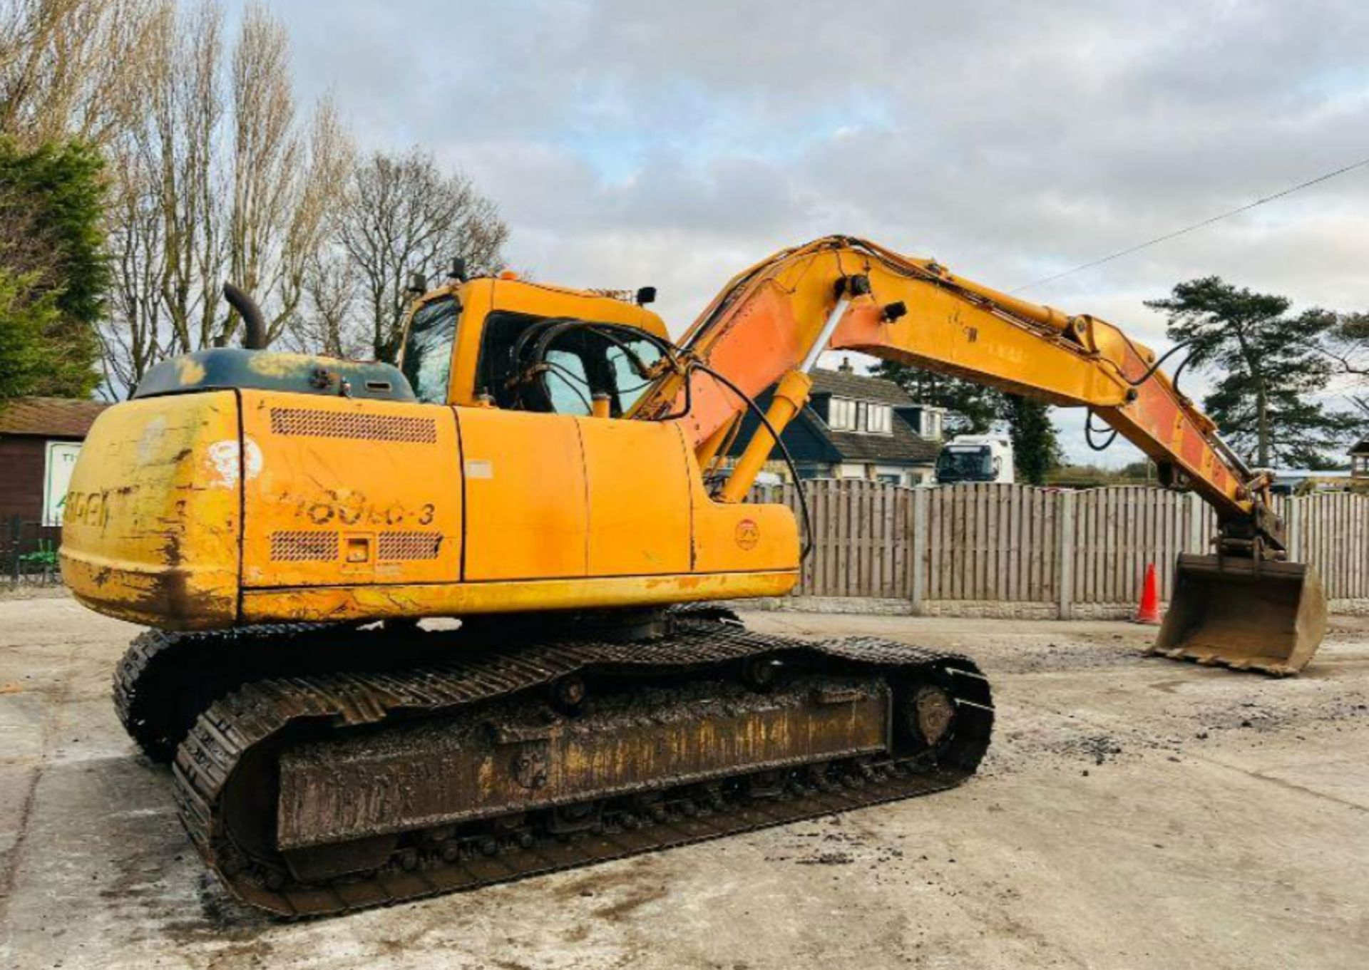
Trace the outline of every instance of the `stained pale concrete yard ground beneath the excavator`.
{"label": "stained pale concrete yard ground beneath the excavator", "polygon": [[0,966],[1365,967],[1369,621],[1307,674],[1142,659],[1120,622],[754,613],[975,655],[998,729],[924,799],[281,923],[182,836],[110,703],[131,627],[0,599]]}

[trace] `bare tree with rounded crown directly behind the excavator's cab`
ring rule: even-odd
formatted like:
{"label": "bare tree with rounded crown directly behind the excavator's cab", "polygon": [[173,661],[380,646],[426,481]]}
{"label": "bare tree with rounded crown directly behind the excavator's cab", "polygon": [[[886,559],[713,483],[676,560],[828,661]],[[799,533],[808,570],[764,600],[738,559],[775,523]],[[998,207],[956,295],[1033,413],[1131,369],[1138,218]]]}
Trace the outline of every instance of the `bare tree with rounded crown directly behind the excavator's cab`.
{"label": "bare tree with rounded crown directly behind the excavator's cab", "polygon": [[338,244],[353,267],[378,360],[402,337],[411,272],[430,275],[461,257],[472,272],[502,265],[508,226],[464,175],[444,174],[418,149],[375,153],[352,176]]}

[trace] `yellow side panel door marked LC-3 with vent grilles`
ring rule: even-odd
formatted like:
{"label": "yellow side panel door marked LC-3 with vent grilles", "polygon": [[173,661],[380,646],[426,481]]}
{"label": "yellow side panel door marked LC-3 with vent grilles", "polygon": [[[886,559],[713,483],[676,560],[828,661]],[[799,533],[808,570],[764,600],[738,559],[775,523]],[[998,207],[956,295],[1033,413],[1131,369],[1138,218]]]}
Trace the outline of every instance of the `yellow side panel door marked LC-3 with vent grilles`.
{"label": "yellow side panel door marked LC-3 with vent grilles", "polygon": [[459,454],[446,406],[242,391],[242,584],[456,581]]}

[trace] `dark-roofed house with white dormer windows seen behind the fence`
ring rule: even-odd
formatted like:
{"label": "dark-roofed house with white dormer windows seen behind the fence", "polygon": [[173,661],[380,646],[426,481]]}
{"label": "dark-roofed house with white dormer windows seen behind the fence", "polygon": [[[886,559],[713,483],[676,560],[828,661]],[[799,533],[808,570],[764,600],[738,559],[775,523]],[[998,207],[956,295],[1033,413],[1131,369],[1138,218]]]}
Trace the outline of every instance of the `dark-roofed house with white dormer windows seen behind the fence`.
{"label": "dark-roofed house with white dormer windows seen behind the fence", "polygon": [[[868,479],[890,484],[931,484],[942,445],[945,408],[914,401],[893,380],[856,373],[849,361],[809,375],[813,390],[780,438],[805,479]],[[769,395],[760,399],[768,406]],[[756,427],[749,416],[732,446],[742,451]],[[765,471],[789,476],[779,449]]]}

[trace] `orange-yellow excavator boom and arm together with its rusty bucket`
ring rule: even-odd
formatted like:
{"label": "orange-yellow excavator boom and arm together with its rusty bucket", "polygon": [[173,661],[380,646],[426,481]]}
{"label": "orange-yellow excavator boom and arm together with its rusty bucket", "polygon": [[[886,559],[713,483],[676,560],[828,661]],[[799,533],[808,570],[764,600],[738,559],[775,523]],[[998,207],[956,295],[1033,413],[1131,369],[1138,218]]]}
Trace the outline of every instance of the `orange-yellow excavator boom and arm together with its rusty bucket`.
{"label": "orange-yellow excavator boom and arm together with its rusty bucket", "polygon": [[[1307,664],[1325,631],[1316,572],[1285,562],[1269,476],[1253,472],[1155,367],[1155,354],[1113,324],[1068,315],[965,279],[938,264],[849,237],[782,250],[734,278],[682,341],[697,363],[658,380],[637,406],[658,417],[690,384],[700,464],[728,451],[746,395],[778,389],[719,491],[738,502],[806,402],[824,350],[856,350],[1061,406],[1091,409],[1155,461],[1160,480],[1192,490],[1217,513],[1214,555],[1181,555],[1153,653],[1268,673]],[[727,384],[712,376],[727,376]],[[804,379],[801,379],[804,378]]]}

